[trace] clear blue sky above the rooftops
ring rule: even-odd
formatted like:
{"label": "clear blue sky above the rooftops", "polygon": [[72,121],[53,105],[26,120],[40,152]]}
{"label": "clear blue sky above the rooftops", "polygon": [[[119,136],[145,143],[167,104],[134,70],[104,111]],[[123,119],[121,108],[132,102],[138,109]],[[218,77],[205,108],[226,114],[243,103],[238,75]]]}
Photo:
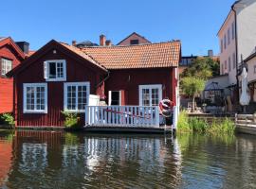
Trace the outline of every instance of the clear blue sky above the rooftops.
{"label": "clear blue sky above the rooftops", "polygon": [[51,39],[119,43],[136,31],[151,42],[181,40],[182,54],[219,52],[216,34],[234,0],[8,0],[0,5],[0,36],[38,49]]}

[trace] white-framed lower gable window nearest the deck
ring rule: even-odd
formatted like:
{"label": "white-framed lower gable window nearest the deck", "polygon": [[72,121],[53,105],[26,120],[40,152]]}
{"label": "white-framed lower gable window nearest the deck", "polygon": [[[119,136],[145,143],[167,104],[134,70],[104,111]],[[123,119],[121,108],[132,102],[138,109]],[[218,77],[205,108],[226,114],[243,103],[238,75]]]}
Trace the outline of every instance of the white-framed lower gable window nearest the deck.
{"label": "white-framed lower gable window nearest the deck", "polygon": [[64,83],[64,111],[84,112],[89,94],[89,82]]}

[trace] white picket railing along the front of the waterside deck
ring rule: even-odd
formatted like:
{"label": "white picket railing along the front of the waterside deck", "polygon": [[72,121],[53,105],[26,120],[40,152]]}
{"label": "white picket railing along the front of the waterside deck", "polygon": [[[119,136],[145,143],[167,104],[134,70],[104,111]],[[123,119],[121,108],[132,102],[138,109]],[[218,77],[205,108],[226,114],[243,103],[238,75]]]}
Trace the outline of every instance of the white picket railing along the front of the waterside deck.
{"label": "white picket railing along the front of the waterside deck", "polygon": [[159,128],[157,106],[86,106],[86,126]]}

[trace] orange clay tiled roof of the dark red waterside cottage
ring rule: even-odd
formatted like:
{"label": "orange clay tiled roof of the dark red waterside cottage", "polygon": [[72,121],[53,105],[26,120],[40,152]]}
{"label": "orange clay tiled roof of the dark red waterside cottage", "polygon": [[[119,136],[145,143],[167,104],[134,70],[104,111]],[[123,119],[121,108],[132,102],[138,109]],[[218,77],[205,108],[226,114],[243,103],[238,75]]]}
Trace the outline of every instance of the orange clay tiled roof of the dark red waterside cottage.
{"label": "orange clay tiled roof of the dark red waterside cottage", "polygon": [[93,46],[81,50],[107,69],[175,67],[180,60],[181,43]]}

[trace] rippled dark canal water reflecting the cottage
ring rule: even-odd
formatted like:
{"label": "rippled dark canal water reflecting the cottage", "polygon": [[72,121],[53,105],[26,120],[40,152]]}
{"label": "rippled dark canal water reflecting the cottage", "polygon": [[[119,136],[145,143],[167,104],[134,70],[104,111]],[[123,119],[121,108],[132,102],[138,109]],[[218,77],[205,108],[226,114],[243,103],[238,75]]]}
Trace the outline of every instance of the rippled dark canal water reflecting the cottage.
{"label": "rippled dark canal water reflecting the cottage", "polygon": [[256,137],[0,130],[0,188],[256,188]]}

